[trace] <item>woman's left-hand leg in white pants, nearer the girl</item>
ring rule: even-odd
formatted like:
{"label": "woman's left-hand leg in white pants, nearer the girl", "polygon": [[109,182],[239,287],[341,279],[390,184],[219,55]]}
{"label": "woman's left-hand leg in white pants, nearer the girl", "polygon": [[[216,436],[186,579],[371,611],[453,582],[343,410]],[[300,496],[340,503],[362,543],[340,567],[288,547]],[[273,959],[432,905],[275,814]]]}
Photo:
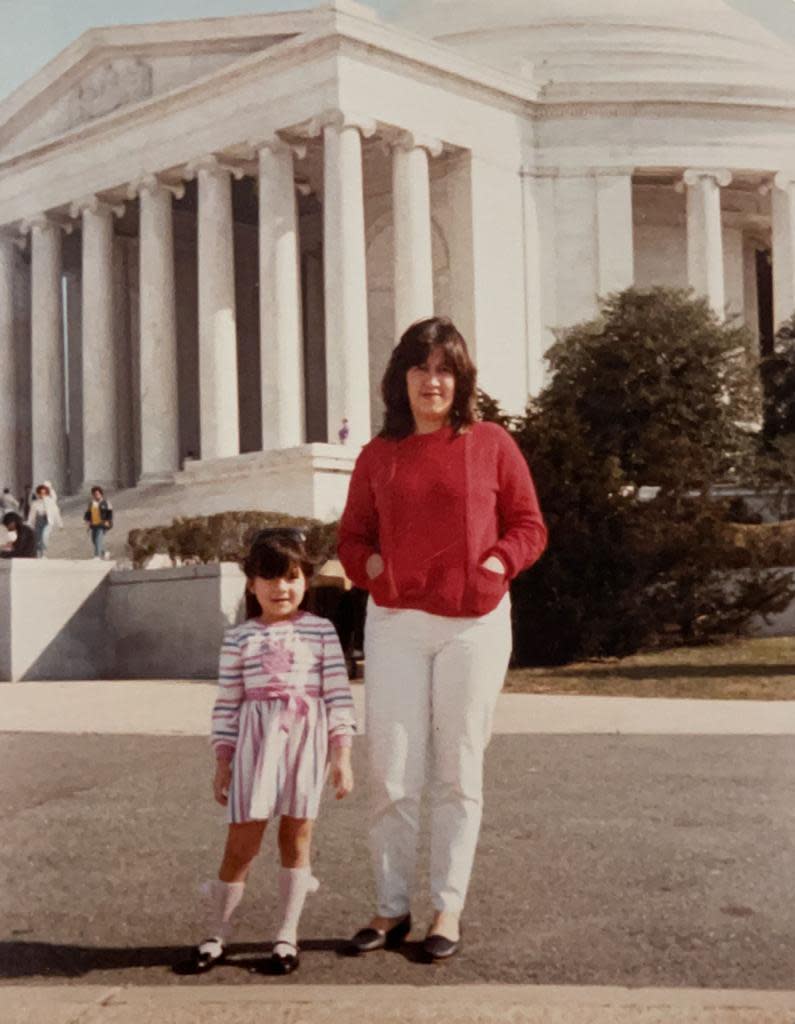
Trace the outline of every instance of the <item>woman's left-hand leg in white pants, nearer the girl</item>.
{"label": "woman's left-hand leg in white pants, nearer the girl", "polygon": [[370,850],[384,931],[410,909],[430,733],[430,616],[368,604],[365,687]]}

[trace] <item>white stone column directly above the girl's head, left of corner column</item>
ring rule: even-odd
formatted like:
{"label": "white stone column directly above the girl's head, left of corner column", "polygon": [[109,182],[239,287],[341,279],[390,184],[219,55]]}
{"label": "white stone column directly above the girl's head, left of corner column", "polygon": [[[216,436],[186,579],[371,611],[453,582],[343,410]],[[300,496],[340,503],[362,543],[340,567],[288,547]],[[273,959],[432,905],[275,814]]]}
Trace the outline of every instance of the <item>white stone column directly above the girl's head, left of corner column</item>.
{"label": "white stone column directly above the girl's head, left of corner column", "polygon": [[262,447],[303,443],[303,330],[293,147],[259,151],[259,337]]}

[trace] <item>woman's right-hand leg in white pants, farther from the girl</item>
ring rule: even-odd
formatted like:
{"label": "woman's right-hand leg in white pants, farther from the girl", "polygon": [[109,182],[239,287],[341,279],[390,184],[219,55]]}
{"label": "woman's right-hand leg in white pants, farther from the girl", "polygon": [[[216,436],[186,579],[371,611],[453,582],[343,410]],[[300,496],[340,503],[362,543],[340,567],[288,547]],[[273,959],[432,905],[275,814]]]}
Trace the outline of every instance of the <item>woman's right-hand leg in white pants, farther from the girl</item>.
{"label": "woman's right-hand leg in white pants, farther from the girl", "polygon": [[433,665],[430,888],[436,919],[431,932],[453,940],[480,828],[484,753],[510,649],[506,598],[457,631]]}

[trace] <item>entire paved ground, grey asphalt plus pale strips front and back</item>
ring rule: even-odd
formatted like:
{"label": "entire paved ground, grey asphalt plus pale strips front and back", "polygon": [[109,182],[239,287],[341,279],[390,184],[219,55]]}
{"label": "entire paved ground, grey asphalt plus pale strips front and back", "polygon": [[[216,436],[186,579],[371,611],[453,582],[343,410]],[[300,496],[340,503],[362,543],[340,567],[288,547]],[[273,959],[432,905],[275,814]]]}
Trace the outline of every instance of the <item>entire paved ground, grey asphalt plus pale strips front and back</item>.
{"label": "entire paved ground, grey asphalt plus pale strips front and back", "polygon": [[795,1020],[795,705],[504,695],[464,948],[442,968],[418,956],[422,871],[412,941],[344,954],[372,901],[359,744],[357,792],[318,825],[299,972],[251,970],[276,909],[269,838],[231,963],[180,978],[224,830],[212,698],[0,687],[3,1024]]}

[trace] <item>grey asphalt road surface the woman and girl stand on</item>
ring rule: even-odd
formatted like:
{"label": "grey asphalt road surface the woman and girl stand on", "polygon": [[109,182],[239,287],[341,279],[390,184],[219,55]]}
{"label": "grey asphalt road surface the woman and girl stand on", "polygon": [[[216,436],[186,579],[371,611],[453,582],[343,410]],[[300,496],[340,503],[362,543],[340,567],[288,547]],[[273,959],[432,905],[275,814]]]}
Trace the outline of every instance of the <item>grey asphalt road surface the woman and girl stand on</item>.
{"label": "grey asphalt road surface the woman and girl stand on", "polygon": [[[444,967],[415,942],[345,955],[372,907],[361,741],[354,769],[318,822],[296,975],[251,971],[276,913],[269,836],[235,956],[184,978],[171,968],[206,931],[197,890],[225,831],[207,741],[0,734],[0,979],[795,988],[792,737],[496,736],[464,948]],[[426,891],[421,871],[415,937]]]}

